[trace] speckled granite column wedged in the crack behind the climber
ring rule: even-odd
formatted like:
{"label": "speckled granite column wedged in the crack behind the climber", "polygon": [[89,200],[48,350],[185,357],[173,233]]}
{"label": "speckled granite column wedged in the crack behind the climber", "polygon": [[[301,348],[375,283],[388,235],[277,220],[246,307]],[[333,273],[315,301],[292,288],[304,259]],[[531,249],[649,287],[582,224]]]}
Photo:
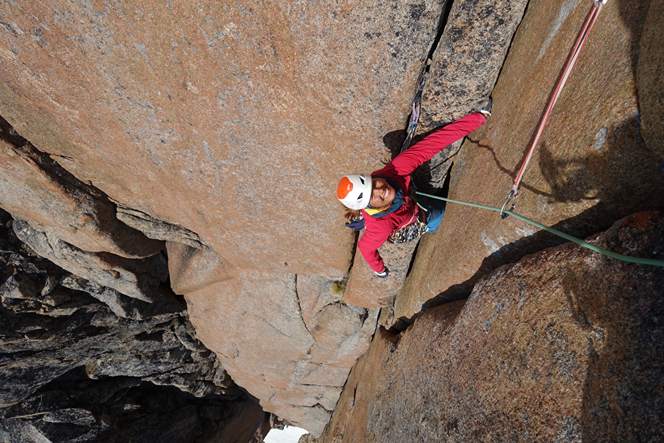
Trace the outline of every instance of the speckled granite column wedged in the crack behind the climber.
{"label": "speckled granite column wedged in the crack behind the climber", "polygon": [[[527,0],[503,1],[500,5],[488,0],[453,3],[424,88],[419,132],[439,128],[484,106],[527,3]],[[434,194],[440,191],[460,147],[461,141],[449,145],[414,172],[419,191]],[[404,284],[415,246],[382,246],[381,255],[384,253],[382,257],[388,259],[386,266],[394,272],[393,278],[386,282],[376,281],[361,254],[356,254],[345,300],[366,307],[392,305],[390,299]]]}

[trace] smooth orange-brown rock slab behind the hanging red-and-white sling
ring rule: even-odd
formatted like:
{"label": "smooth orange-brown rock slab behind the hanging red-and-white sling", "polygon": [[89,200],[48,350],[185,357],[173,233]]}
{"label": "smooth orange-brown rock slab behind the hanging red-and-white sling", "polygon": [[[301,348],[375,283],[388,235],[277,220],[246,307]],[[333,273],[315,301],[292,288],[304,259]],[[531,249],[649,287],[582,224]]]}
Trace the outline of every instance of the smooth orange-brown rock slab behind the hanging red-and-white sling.
{"label": "smooth orange-brown rock slab behind the hanging red-and-white sling", "polygon": [[[454,161],[450,198],[503,204],[591,6],[529,3],[493,90],[493,116]],[[523,177],[517,213],[583,238],[664,207],[664,193],[655,191],[664,189],[662,158],[641,137],[635,95],[647,11],[635,1],[602,9]],[[422,310],[467,298],[480,276],[560,242],[513,217],[450,204],[438,231],[420,241],[394,319],[412,322]]]}

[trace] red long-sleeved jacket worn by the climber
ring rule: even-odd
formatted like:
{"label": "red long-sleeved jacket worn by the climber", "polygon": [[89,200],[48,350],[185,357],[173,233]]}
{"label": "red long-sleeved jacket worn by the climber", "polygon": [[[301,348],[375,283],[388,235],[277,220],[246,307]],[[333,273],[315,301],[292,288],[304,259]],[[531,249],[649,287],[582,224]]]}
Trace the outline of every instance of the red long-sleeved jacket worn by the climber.
{"label": "red long-sleeved jacket worn by the climber", "polygon": [[384,175],[396,181],[404,193],[403,205],[391,214],[375,218],[362,210],[366,229],[360,241],[357,242],[357,247],[374,271],[381,272],[385,267],[378,254],[378,248],[391,234],[414,221],[414,215],[417,213],[417,206],[414,205],[410,193],[410,173],[444,147],[482,126],[486,120],[484,114],[479,112],[459,118],[456,122],[428,135],[420,143],[416,143],[410,149],[400,153],[384,168],[371,173],[372,177]]}

